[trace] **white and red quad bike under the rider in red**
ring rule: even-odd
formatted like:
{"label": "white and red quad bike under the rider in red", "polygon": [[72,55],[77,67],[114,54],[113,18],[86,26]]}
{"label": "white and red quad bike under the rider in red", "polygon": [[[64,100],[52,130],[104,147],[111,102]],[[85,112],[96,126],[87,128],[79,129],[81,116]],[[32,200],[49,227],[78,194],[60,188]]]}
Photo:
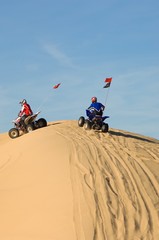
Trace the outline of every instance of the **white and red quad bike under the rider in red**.
{"label": "white and red quad bike under the rider in red", "polygon": [[37,128],[42,128],[47,126],[47,121],[44,118],[35,120],[40,112],[37,112],[33,115],[30,115],[25,118],[24,123],[21,123],[21,117],[17,117],[12,122],[14,123],[14,128],[11,128],[8,132],[10,138],[17,138],[20,136],[20,133],[32,132]]}

